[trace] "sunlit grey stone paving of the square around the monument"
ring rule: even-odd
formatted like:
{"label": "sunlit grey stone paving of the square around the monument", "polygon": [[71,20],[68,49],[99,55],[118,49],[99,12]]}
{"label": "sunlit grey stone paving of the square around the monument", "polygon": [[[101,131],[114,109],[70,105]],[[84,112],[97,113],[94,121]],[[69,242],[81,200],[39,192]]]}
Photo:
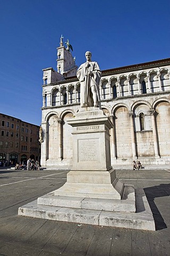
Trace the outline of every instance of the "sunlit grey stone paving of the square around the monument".
{"label": "sunlit grey stone paving of the square around the monument", "polygon": [[20,206],[61,187],[66,173],[66,170],[0,170],[0,255],[169,255],[169,166],[140,171],[116,170],[118,179],[145,189],[156,231],[80,225],[18,215]]}

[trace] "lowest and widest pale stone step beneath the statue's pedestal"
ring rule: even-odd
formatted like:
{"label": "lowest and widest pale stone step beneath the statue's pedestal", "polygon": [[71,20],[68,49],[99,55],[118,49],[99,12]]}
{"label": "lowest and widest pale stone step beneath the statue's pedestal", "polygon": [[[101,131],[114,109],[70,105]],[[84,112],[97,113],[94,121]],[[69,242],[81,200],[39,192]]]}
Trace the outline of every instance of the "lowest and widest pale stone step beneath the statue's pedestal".
{"label": "lowest and widest pale stone step beneath the statue's pedestal", "polygon": [[47,206],[37,204],[36,200],[19,207],[18,214],[34,218],[77,222],[98,226],[155,230],[154,218],[143,189],[136,189],[135,194],[136,212],[115,212]]}

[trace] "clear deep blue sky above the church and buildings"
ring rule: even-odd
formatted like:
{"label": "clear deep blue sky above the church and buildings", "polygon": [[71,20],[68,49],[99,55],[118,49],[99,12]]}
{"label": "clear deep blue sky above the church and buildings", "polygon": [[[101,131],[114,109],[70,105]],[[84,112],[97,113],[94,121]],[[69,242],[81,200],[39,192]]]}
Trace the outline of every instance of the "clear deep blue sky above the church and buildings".
{"label": "clear deep blue sky above the church and buildings", "polygon": [[170,58],[170,1],[0,0],[0,113],[41,124],[42,69],[56,70],[56,47],[69,39],[100,69]]}

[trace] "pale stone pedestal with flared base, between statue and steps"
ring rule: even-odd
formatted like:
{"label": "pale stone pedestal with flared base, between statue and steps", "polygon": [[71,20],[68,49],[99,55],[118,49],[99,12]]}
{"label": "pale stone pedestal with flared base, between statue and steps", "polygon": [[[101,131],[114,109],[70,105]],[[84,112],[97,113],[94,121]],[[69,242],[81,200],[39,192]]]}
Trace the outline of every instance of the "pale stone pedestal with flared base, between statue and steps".
{"label": "pale stone pedestal with flared base, between statue and steps", "polygon": [[73,171],[54,195],[121,199],[124,185],[111,166],[110,119],[91,107],[80,109],[67,122],[73,127]]}

